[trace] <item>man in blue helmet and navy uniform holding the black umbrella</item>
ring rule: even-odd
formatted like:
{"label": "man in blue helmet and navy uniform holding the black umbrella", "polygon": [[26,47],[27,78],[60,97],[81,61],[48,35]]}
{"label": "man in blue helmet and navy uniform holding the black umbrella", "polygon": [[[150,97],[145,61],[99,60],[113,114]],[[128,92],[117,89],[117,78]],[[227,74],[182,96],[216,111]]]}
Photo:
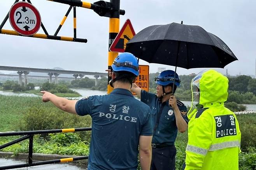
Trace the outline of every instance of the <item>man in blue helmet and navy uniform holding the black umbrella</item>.
{"label": "man in blue helmet and navy uniform holding the black umbrella", "polygon": [[151,170],[175,170],[177,131],[183,133],[188,128],[187,108],[172,94],[173,82],[175,92],[181,81],[172,70],[161,72],[155,81],[156,94],[142,90],[135,83],[132,91],[151,108],[154,127]]}

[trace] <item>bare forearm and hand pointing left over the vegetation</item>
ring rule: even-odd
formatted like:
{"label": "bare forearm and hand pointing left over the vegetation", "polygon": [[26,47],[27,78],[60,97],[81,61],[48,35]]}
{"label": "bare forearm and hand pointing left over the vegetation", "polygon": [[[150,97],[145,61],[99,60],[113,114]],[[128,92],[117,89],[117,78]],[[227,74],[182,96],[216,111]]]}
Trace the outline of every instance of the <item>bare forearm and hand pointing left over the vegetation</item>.
{"label": "bare forearm and hand pointing left over the vegetation", "polygon": [[65,112],[77,114],[77,112],[75,111],[75,103],[77,102],[77,100],[68,100],[64,97],[58,97],[48,91],[40,91],[40,93],[43,93],[43,102],[51,101],[59,109]]}

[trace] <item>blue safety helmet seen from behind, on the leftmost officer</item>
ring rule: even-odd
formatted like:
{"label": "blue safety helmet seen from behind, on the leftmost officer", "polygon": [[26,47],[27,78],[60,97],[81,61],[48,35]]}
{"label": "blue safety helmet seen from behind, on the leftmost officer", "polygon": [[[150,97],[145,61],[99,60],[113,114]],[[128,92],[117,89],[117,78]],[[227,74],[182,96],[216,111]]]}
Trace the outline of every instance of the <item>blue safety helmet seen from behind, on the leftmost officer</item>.
{"label": "blue safety helmet seen from behind, on the leftmost officer", "polygon": [[119,54],[112,64],[114,72],[127,71],[139,75],[139,62],[132,53]]}

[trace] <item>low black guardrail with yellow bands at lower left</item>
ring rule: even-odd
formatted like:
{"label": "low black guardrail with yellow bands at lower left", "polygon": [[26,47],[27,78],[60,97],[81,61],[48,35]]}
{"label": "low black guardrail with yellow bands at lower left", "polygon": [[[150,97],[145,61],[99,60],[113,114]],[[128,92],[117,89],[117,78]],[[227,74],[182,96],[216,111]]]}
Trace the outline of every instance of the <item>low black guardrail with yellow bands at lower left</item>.
{"label": "low black guardrail with yellow bands at lower left", "polygon": [[12,140],[11,142],[0,145],[0,150],[5,147],[8,147],[10,145],[21,142],[23,140],[29,139],[28,163],[18,164],[18,165],[0,166],[0,170],[13,169],[13,168],[24,168],[24,167],[29,167],[29,166],[46,165],[46,164],[51,164],[51,163],[72,162],[72,161],[77,161],[77,160],[81,160],[81,159],[88,159],[88,156],[78,156],[78,157],[74,157],[74,158],[63,158],[63,159],[53,159],[53,160],[49,160],[49,161],[33,162],[33,135],[44,134],[44,133],[67,133],[67,132],[74,132],[74,131],[90,131],[90,130],[91,130],[91,128],[69,128],[69,129],[54,129],[54,130],[0,132],[0,137],[25,135],[23,137]]}

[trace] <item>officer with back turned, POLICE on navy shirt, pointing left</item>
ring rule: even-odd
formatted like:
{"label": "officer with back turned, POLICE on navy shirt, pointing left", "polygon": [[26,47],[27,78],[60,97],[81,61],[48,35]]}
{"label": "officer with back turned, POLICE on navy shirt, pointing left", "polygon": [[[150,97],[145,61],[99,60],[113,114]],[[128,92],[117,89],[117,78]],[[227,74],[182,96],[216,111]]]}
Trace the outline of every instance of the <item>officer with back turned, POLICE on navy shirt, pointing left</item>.
{"label": "officer with back turned, POLICE on navy shirt, pointing left", "polygon": [[[143,170],[151,163],[153,125],[150,108],[135,99],[130,91],[138,76],[139,63],[131,53],[122,53],[112,64],[109,95],[67,100],[42,91],[43,102],[92,118],[88,170],[137,170],[138,150]],[[139,148],[138,148],[139,146]]]}

